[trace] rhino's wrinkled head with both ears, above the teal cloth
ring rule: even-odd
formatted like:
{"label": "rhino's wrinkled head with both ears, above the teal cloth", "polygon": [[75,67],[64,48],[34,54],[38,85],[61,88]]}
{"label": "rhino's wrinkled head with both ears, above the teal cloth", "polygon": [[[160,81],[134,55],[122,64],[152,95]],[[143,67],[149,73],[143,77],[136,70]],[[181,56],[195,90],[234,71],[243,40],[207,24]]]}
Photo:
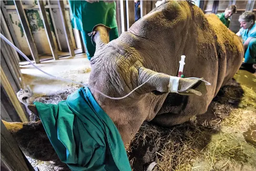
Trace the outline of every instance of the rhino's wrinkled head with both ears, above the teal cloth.
{"label": "rhino's wrinkled head with both ears, above the teal cloth", "polygon": [[[117,126],[123,142],[129,143],[144,121],[151,121],[159,112],[168,95],[170,76],[157,73],[143,64],[139,49],[128,45],[123,37],[109,42],[110,28],[99,24],[92,30],[92,41],[96,52],[91,59],[92,72],[89,85],[110,97],[126,98],[115,100],[91,89],[96,101]],[[120,41],[121,39],[121,41]],[[196,84],[197,83],[197,84]],[[180,78],[178,92],[183,95],[205,94],[201,80]]]}

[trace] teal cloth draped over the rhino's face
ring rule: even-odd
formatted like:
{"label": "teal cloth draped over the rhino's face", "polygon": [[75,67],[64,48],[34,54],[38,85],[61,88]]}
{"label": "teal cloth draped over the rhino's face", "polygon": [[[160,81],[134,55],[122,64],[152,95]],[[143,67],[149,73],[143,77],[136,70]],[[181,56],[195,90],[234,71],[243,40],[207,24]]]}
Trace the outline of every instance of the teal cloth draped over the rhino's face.
{"label": "teal cloth draped over the rhino's face", "polygon": [[53,148],[72,171],[132,171],[116,126],[89,88],[59,104],[34,104]]}

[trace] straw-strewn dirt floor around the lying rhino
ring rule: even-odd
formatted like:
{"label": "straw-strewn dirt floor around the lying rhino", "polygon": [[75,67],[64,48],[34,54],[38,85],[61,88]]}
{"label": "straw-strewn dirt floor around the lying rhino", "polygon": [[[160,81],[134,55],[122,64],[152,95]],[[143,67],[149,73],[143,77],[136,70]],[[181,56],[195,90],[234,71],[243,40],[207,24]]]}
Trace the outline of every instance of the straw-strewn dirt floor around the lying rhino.
{"label": "straw-strewn dirt floor around the lying rhino", "polygon": [[[239,72],[236,79],[248,75]],[[221,88],[205,114],[186,123],[143,123],[127,150],[133,171],[146,171],[154,161],[153,171],[256,171],[256,84],[236,79]],[[56,104],[78,87],[35,100]],[[53,169],[48,161],[29,160],[40,171]]]}

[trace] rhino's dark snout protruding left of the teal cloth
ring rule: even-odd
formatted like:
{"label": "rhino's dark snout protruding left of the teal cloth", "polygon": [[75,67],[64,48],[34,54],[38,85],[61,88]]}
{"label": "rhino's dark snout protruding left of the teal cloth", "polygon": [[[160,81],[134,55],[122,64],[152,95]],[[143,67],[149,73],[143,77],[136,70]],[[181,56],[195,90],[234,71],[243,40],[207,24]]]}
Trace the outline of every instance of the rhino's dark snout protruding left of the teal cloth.
{"label": "rhino's dark snout protruding left of the teal cloth", "polygon": [[25,155],[41,161],[59,159],[41,121],[32,123],[8,123],[3,121],[3,123]]}

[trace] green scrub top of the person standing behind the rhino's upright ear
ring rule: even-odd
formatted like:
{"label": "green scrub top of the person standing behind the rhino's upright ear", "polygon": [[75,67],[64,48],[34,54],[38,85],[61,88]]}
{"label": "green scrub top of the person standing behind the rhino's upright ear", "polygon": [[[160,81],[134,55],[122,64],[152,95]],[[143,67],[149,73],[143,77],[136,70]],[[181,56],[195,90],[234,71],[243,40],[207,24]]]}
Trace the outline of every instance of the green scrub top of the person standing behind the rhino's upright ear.
{"label": "green scrub top of the person standing behind the rhino's upright ear", "polygon": [[72,27],[80,31],[92,31],[97,24],[115,28],[115,2],[87,2],[85,0],[69,0]]}

